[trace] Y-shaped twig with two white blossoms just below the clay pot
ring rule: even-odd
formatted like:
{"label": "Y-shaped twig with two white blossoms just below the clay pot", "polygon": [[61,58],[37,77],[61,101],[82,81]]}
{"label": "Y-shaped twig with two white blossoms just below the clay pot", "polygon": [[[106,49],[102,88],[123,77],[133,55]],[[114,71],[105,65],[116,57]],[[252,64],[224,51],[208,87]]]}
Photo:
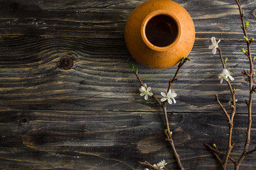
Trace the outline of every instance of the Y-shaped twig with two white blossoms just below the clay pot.
{"label": "Y-shaped twig with two white blossoms just below the clay pot", "polygon": [[[169,81],[169,86],[167,88],[166,93],[161,92],[161,96],[163,96],[164,98],[161,98],[161,101],[159,101],[159,99],[151,92],[151,87],[147,87],[146,84],[143,83],[142,79],[139,77],[138,74],[138,69],[134,68],[134,66],[132,64],[129,64],[129,67],[132,69],[132,72],[134,72],[134,74],[136,75],[137,79],[139,80],[139,83],[142,85],[142,87],[139,89],[139,91],[141,92],[141,96],[144,96],[144,99],[147,100],[148,96],[152,96],[152,98],[154,98],[156,100],[156,102],[159,104],[159,106],[161,106],[161,108],[164,111],[164,118],[165,118],[165,122],[166,122],[166,130],[164,131],[166,134],[166,140],[169,142],[169,144],[171,145],[171,149],[174,152],[174,157],[176,158],[176,162],[178,164],[179,169],[184,170],[182,164],[181,164],[181,159],[179,158],[178,153],[176,152],[176,147],[174,145],[174,140],[171,137],[172,132],[170,130],[170,126],[169,126],[169,120],[168,120],[168,115],[167,115],[167,110],[166,110],[166,104],[172,104],[172,103],[176,103],[175,97],[177,96],[177,94],[171,90],[171,86],[174,84],[175,81],[177,81],[178,79],[176,79],[178,72],[180,71],[181,67],[183,66],[183,64],[186,63],[186,61],[190,61],[190,59],[187,57],[183,57],[181,59],[181,61],[178,64],[178,68],[176,70],[176,73],[174,74],[173,79],[170,79]],[[141,164],[142,162],[140,162]],[[144,162],[144,164],[148,164],[148,162]]]}

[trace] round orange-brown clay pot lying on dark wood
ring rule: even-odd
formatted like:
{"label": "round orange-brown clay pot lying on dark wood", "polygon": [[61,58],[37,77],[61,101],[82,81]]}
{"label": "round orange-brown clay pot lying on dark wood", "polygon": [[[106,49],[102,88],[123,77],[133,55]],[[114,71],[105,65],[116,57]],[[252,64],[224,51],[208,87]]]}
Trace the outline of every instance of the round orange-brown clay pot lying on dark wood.
{"label": "round orange-brown clay pot lying on dark wood", "polygon": [[124,37],[137,62],[164,69],[191,52],[195,27],[186,9],[176,2],[149,0],[129,16]]}

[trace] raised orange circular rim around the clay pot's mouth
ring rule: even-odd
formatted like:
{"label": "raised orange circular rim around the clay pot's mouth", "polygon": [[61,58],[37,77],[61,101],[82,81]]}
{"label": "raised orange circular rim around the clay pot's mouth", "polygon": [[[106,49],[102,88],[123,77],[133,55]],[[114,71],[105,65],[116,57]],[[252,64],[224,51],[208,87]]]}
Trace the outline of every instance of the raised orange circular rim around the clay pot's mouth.
{"label": "raised orange circular rim around the clay pot's mouth", "polygon": [[[167,45],[165,47],[158,47],[156,45],[153,45],[151,42],[149,42],[149,40],[146,38],[146,25],[147,23],[151,20],[151,18],[153,18],[154,16],[160,16],[160,15],[165,15],[165,16],[169,16],[171,17],[174,22],[176,23],[177,26],[177,36],[176,39],[174,40],[174,42],[172,42],[170,45]],[[142,21],[142,26],[141,26],[141,35],[142,35],[142,40],[145,42],[145,44],[150,47],[152,50],[155,51],[166,51],[171,49],[171,47],[174,47],[174,45],[176,45],[176,43],[178,42],[178,40],[181,38],[181,23],[178,22],[178,18],[176,18],[176,16],[174,16],[173,13],[166,11],[166,10],[156,10],[153,11],[151,13],[149,13],[145,18],[144,21]]]}

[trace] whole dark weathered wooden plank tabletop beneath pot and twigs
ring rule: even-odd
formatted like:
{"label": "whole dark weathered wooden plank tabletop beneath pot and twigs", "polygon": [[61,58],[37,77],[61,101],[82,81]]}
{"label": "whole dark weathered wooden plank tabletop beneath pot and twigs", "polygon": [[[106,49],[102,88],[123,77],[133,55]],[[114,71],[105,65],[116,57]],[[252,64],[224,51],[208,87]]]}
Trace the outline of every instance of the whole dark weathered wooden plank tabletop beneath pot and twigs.
{"label": "whole dark weathered wooden plank tabletop beneath pot and twigs", "polygon": [[[176,71],[144,67],[127,51],[124,26],[142,2],[1,0],[0,169],[129,170],[146,168],[139,161],[155,164],[162,159],[176,169],[164,141],[161,108],[154,99],[139,96],[139,82],[128,67],[138,67],[159,98]],[[229,0],[176,2],[191,14],[196,42],[191,62],[173,86],[178,96],[168,107],[171,130],[186,169],[220,169],[204,143],[215,143],[225,152],[228,123],[215,94],[228,111],[230,94],[218,79],[219,57],[208,46],[212,36],[221,39],[235,77],[238,111],[232,155],[238,158],[247,127],[248,86],[241,71],[249,67],[240,52],[245,42],[238,6]],[[242,4],[254,36],[256,1]],[[250,148],[256,144],[255,128],[253,123]],[[250,155],[240,169],[256,169],[255,159],[256,154]]]}

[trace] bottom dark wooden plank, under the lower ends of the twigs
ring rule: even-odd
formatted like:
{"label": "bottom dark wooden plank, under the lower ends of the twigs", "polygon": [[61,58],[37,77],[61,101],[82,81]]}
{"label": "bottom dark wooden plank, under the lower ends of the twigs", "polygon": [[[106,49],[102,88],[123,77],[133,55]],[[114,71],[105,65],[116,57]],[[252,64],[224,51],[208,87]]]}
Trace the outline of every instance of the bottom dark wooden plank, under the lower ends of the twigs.
{"label": "bottom dark wooden plank, under the lower ends of the twigs", "polygon": [[[171,130],[186,169],[219,169],[203,145],[225,150],[228,126],[223,114],[169,113]],[[246,116],[235,116],[233,156],[242,151]],[[138,161],[166,159],[164,116],[149,112],[1,111],[1,169],[142,169]],[[256,144],[253,125],[251,144]],[[255,154],[241,169],[255,169]],[[231,164],[231,163],[230,163]]]}

